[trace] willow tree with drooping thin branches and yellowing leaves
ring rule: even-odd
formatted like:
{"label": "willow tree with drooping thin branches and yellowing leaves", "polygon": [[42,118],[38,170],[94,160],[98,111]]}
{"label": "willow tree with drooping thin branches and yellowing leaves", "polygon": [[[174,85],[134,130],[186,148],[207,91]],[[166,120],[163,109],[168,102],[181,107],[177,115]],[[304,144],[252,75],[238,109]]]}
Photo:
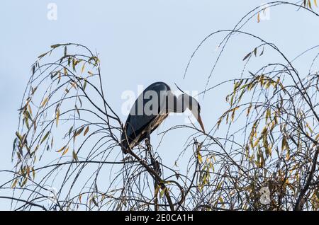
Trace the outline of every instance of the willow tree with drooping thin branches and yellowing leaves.
{"label": "willow tree with drooping thin branches and yellowing leaves", "polygon": [[[315,1],[267,7],[279,5],[319,16]],[[145,144],[123,155],[123,123],[103,91],[107,75],[101,75],[98,54],[75,43],[52,45],[33,64],[13,143],[16,170],[0,186],[12,195],[0,197],[24,210],[318,210],[319,75],[313,67],[319,53],[301,74],[294,62],[305,52],[289,60],[276,45],[243,30],[263,12],[264,6],[254,8],[235,28],[211,33],[191,55],[185,75],[203,43],[224,35],[201,94],[227,83],[233,88],[225,96],[229,108],[208,134],[186,125],[161,133],[193,133],[180,149],[181,157],[189,156],[184,173],[155,151],[145,158]],[[239,35],[259,45],[242,57],[238,79],[209,87],[226,45]],[[266,54],[279,62],[249,69]],[[150,166],[155,158],[160,174]]]}

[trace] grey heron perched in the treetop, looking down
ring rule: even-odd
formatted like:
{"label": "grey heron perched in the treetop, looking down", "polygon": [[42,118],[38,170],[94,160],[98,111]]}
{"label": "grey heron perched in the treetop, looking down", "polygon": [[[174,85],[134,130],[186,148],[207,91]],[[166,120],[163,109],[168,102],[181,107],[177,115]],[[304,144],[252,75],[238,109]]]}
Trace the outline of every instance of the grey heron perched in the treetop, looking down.
{"label": "grey heron perched in the treetop, looking down", "polygon": [[144,139],[148,139],[150,143],[150,134],[169,113],[184,113],[187,108],[191,110],[205,133],[200,116],[201,107],[195,98],[186,93],[177,97],[166,83],[152,83],[135,100],[125,122],[121,135],[123,153],[127,154],[129,149],[133,149]]}

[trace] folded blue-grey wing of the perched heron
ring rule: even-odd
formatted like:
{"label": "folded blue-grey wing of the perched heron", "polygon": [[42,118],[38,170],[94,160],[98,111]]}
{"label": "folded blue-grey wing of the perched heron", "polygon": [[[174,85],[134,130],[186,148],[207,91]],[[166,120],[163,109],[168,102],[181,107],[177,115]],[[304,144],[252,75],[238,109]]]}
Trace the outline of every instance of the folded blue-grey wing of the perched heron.
{"label": "folded blue-grey wing of the perched heron", "polygon": [[[123,147],[128,148],[128,144],[139,137],[138,142],[145,138],[147,126],[155,120],[162,107],[163,99],[161,96],[170,91],[166,83],[152,83],[143,91],[130,110],[130,115],[125,122],[125,133],[122,133]],[[154,110],[153,110],[154,109]],[[128,137],[128,142],[126,142]]]}

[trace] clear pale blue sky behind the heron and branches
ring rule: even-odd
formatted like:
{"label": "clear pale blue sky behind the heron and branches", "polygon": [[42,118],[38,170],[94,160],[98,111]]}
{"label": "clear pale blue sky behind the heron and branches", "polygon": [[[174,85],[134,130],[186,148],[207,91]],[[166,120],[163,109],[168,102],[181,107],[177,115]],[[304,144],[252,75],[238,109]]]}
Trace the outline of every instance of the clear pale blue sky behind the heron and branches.
{"label": "clear pale blue sky behind the heron and branches", "polygon": [[[57,21],[47,19],[47,4],[50,2],[57,4]],[[136,91],[138,85],[164,81],[175,89],[176,82],[185,90],[203,91],[220,36],[207,42],[198,52],[183,80],[191,53],[206,35],[219,29],[233,28],[245,13],[264,2],[1,1],[0,169],[13,168],[11,149],[18,125],[17,110],[30,76],[30,65],[50,45],[79,42],[99,52],[107,98],[121,115],[121,93]],[[317,19],[291,6],[272,8],[269,21],[257,23],[257,18],[254,18],[244,30],[276,43],[290,59],[318,44]],[[231,43],[210,86],[239,76],[242,57],[258,43],[241,37]],[[271,62],[275,57],[268,55],[264,62]],[[302,64],[301,61],[299,66]],[[225,91],[214,91],[199,99],[206,129],[213,127],[218,115],[225,109],[224,99]],[[125,120],[125,116],[121,115],[121,119]],[[160,129],[180,125],[183,121],[182,117],[169,118]],[[174,136],[177,134],[178,140]],[[187,137],[187,134],[173,131],[161,146],[163,159],[165,151],[181,146]],[[156,134],[152,139],[157,142]],[[169,160],[174,162],[174,158],[173,154]],[[0,183],[4,180],[0,176]],[[1,201],[0,209],[6,209],[6,202]]]}

